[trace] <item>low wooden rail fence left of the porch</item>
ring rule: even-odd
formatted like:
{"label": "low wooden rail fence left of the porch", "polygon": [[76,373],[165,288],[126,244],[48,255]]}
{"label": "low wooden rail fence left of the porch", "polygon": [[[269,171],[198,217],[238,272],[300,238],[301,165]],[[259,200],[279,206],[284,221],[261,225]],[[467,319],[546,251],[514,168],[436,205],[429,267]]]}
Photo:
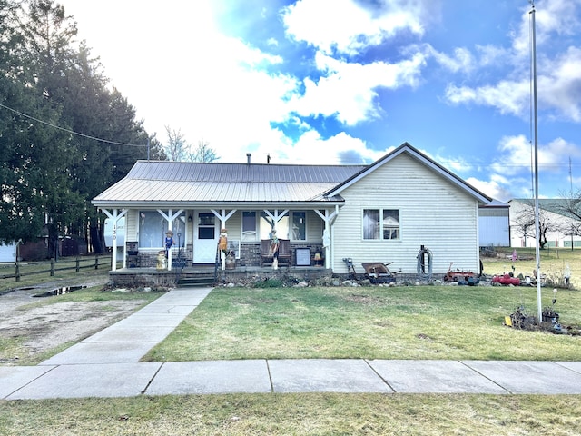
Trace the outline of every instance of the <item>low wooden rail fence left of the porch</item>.
{"label": "low wooden rail fence left of the porch", "polygon": [[98,270],[100,267],[110,268],[112,263],[112,256],[107,255],[95,255],[94,257],[89,256],[77,256],[75,259],[68,257],[62,257],[57,261],[54,259],[49,262],[44,263],[21,263],[16,261],[15,272],[10,274],[1,273],[7,268],[0,270],[0,279],[15,279],[16,282],[20,282],[21,277],[34,274],[50,274],[54,277],[54,272],[57,271],[70,271],[81,272],[85,268],[94,268]]}

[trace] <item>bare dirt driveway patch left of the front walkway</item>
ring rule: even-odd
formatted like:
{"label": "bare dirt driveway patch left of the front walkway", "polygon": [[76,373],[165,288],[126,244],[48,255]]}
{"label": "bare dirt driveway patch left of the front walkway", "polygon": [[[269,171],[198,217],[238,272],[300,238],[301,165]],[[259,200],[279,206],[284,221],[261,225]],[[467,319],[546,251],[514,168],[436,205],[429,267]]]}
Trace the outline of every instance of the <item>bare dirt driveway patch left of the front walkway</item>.
{"label": "bare dirt driveway patch left of the front walkway", "polygon": [[0,350],[0,364],[23,364],[34,359],[38,353],[52,350],[66,342],[81,341],[129,316],[143,304],[143,300],[54,302],[23,308],[38,302],[34,294],[42,292],[42,289],[29,289],[0,295],[0,342],[10,342],[17,338],[23,341],[23,346],[18,348],[20,355],[6,355],[9,352]]}

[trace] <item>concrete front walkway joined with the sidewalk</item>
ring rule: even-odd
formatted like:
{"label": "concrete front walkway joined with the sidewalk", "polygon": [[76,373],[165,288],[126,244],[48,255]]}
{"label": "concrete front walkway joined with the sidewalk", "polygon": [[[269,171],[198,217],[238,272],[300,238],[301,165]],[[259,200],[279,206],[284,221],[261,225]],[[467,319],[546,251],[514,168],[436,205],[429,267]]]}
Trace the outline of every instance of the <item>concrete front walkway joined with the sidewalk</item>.
{"label": "concrete front walkway joined with the sidewalk", "polygon": [[139,362],[210,292],[173,290],[37,366],[0,367],[0,399],[233,392],[581,394],[581,362]]}

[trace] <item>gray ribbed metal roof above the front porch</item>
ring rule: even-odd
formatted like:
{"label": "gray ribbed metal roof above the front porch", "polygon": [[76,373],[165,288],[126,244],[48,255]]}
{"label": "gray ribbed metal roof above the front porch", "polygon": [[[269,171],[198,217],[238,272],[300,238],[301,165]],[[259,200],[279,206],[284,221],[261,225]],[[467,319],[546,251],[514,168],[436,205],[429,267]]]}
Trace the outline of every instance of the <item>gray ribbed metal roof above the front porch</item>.
{"label": "gray ribbed metal roof above the front porch", "polygon": [[362,165],[138,161],[123,180],[96,196],[93,203],[110,207],[150,202],[341,202],[340,196],[325,197],[323,193],[363,168]]}

